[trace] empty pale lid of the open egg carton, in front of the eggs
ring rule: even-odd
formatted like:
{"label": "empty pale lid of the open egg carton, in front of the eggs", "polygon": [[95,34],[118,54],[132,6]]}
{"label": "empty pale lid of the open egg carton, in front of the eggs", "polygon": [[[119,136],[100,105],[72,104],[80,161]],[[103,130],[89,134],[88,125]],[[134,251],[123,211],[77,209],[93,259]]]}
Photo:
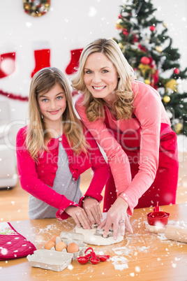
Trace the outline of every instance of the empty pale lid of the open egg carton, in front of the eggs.
{"label": "empty pale lid of the open egg carton, in front of the eggs", "polygon": [[71,264],[73,254],[63,251],[36,250],[33,254],[29,254],[27,259],[33,267],[50,271],[63,271]]}

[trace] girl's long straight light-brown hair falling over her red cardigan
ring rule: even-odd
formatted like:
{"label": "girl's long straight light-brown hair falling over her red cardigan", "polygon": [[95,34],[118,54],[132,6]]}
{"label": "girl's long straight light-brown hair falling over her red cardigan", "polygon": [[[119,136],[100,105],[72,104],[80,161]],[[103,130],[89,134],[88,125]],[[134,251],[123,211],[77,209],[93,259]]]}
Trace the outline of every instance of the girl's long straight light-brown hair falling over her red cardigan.
{"label": "girl's long straight light-brown hair falling over her red cardigan", "polygon": [[66,135],[70,147],[76,154],[80,154],[82,151],[87,153],[89,147],[83,134],[82,123],[73,110],[68,80],[59,69],[47,67],[33,75],[29,93],[29,125],[27,127],[26,146],[31,157],[35,160],[40,152],[47,151],[45,143],[50,140],[49,131],[45,131],[37,96],[42,92],[49,92],[57,84],[63,89],[66,96],[66,110],[63,113],[62,120],[63,134]]}

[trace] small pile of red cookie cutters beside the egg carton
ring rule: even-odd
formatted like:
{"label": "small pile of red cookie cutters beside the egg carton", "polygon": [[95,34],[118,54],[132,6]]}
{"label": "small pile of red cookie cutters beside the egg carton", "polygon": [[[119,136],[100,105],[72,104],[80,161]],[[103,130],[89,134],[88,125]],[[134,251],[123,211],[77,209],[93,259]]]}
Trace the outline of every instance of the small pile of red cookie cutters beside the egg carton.
{"label": "small pile of red cookie cutters beside the egg carton", "polygon": [[[89,252],[89,254],[86,254],[86,252],[88,252],[89,250],[91,250],[91,252]],[[84,254],[86,255],[84,255],[83,257],[77,257],[77,261],[80,264],[87,264],[88,261],[91,261],[91,264],[98,264],[100,261],[106,261],[110,258],[109,254],[96,254],[95,252],[93,252],[92,247],[87,248]]]}

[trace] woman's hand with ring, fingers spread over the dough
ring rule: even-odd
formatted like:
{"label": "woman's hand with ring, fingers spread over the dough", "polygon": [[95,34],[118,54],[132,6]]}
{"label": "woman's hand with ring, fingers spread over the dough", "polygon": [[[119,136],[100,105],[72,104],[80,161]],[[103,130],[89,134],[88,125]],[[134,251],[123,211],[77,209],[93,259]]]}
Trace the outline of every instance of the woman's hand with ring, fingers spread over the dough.
{"label": "woman's hand with ring, fingers spread over the dough", "polygon": [[132,226],[130,225],[130,221],[128,218],[128,214],[126,210],[128,209],[128,203],[118,197],[117,200],[114,202],[112,207],[107,212],[107,218],[98,226],[98,229],[104,228],[103,237],[107,237],[107,233],[110,227],[113,227],[114,231],[114,240],[117,240],[117,233],[120,227],[121,236],[125,235],[126,227],[133,233]]}

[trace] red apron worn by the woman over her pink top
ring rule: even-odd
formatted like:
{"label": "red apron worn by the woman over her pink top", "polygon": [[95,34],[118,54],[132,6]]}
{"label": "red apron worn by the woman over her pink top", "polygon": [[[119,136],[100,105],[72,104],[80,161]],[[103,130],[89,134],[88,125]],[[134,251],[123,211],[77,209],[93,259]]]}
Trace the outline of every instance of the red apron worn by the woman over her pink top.
{"label": "red apron worn by the woman over her pink top", "polygon": [[[105,124],[106,127],[111,130],[106,113]],[[140,155],[140,130],[141,128],[135,131],[135,138],[133,138],[133,134],[129,135],[112,130],[114,138],[128,156],[132,179],[135,177],[139,169],[138,159]],[[123,138],[123,142],[121,141],[121,137]],[[133,157],[137,157],[137,160],[131,161],[132,159],[135,159]],[[177,194],[178,171],[179,160],[177,151],[177,135],[174,131],[172,131],[170,125],[162,123],[160,127],[159,161],[156,178],[151,187],[147,189],[147,192],[145,192],[139,199],[135,208],[156,206],[157,201],[159,206],[169,205],[171,203],[174,204]],[[123,171],[121,171],[121,173],[123,173]],[[117,192],[114,185],[114,179],[110,171],[110,178],[105,186],[103,211],[106,212],[109,210],[116,199]]]}

